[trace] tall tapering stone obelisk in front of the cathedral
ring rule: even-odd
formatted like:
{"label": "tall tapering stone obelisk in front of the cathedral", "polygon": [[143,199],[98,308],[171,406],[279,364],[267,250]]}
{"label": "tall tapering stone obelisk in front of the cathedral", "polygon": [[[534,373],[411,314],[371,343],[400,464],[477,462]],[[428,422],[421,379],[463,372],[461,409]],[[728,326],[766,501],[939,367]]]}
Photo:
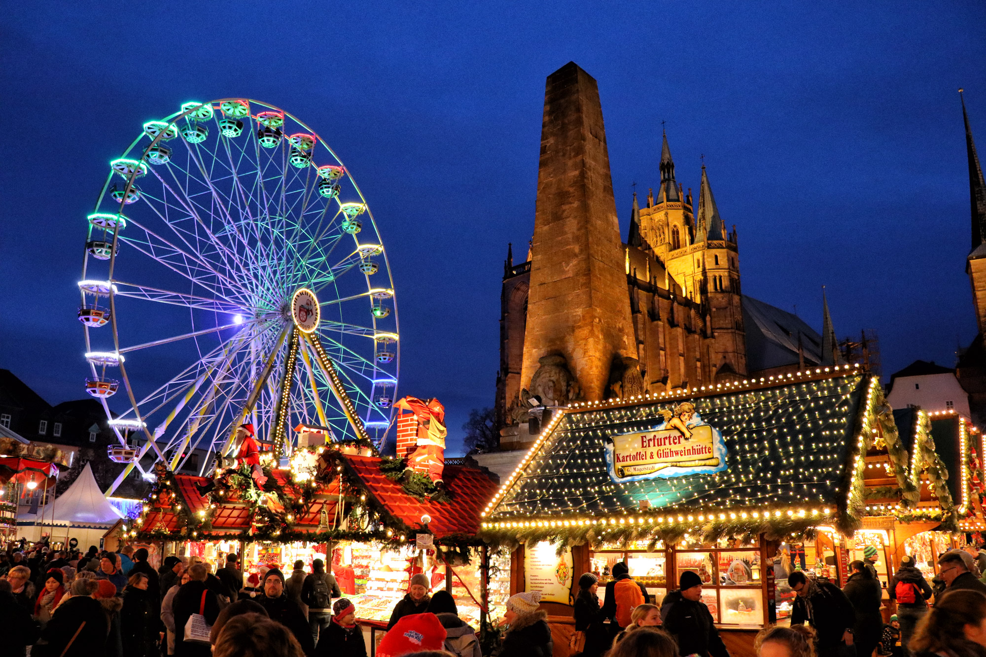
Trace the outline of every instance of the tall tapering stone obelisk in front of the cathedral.
{"label": "tall tapering stone obelisk in front of the cathedral", "polygon": [[614,357],[637,357],[624,266],[599,87],[569,62],[544,90],[523,388],[563,356],[582,399],[607,394]]}

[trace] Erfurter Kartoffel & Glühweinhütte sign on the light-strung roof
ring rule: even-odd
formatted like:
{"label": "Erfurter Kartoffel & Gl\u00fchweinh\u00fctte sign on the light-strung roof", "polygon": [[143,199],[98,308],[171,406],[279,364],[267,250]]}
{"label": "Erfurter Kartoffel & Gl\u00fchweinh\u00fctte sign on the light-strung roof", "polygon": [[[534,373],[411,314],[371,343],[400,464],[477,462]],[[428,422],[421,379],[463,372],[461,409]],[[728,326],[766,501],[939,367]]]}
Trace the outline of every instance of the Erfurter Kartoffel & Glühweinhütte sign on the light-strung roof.
{"label": "Erfurter Kartoffel & Gl\u00fchweinh\u00fctte sign on the light-strung roof", "polygon": [[665,421],[650,431],[613,435],[606,439],[605,459],[615,483],[726,470],[726,441],[684,402],[664,410]]}

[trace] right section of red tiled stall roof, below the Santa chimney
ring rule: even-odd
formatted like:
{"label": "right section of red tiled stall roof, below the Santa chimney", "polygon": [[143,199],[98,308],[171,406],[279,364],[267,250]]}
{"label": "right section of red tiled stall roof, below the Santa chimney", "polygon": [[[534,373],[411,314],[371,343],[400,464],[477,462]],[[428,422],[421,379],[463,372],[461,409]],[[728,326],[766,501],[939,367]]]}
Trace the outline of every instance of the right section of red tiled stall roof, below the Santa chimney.
{"label": "right section of red tiled stall roof, below the Santa chimney", "polygon": [[497,484],[481,471],[446,466],[443,480],[452,501],[421,501],[409,495],[399,483],[380,471],[376,457],[345,456],[353,472],[387,511],[411,528],[421,526],[421,516],[431,516],[428,529],[436,537],[450,534],[475,534],[479,531],[479,514],[493,497]]}

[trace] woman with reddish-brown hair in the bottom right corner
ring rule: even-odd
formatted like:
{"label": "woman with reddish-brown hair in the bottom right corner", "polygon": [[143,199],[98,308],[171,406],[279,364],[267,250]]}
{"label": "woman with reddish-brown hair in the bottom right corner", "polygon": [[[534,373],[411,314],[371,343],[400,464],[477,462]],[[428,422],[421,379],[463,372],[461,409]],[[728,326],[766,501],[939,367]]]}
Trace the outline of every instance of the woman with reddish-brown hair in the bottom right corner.
{"label": "woman with reddish-brown hair in the bottom right corner", "polygon": [[947,591],[918,623],[908,647],[919,655],[986,656],[986,596]]}

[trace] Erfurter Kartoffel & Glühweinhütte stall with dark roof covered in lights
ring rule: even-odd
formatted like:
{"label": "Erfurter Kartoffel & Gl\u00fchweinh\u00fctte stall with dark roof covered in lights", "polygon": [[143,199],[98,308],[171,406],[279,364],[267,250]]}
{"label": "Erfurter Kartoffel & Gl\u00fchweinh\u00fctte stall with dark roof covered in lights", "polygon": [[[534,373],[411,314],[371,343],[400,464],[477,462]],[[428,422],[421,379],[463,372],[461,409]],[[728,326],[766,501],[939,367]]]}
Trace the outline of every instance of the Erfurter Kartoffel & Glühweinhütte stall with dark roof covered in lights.
{"label": "Erfurter Kartoffel & Gl\u00fchweinh\u00fctte stall with dark roof covered in lights", "polygon": [[[794,570],[841,585],[874,546],[885,583],[909,536],[955,530],[925,434],[909,460],[878,379],[858,366],[576,402],[551,409],[482,536],[516,547],[512,588],[541,590],[549,614],[570,605],[579,573],[605,581],[623,561],[659,603],[694,571],[720,627],[755,629],[790,615]],[[574,576],[532,563],[547,548]]]}

